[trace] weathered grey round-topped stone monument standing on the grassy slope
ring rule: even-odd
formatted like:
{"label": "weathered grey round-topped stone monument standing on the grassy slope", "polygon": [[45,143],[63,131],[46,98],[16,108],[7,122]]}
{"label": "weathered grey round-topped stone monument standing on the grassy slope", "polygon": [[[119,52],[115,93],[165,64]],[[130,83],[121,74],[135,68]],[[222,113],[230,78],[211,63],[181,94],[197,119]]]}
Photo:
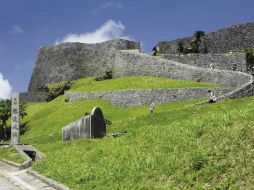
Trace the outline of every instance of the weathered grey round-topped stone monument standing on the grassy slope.
{"label": "weathered grey round-topped stone monument standing on the grassy slope", "polygon": [[62,129],[62,140],[102,138],[106,135],[106,123],[102,110],[95,107],[91,115],[85,115]]}

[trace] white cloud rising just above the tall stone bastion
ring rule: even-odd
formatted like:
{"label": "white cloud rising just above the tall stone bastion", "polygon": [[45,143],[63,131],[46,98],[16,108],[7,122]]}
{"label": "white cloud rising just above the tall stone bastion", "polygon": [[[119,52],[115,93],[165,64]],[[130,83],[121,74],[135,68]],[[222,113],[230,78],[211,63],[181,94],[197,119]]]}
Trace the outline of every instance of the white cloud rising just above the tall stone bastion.
{"label": "white cloud rising just above the tall stone bastion", "polygon": [[67,34],[62,40],[57,40],[56,44],[63,42],[81,42],[81,43],[100,43],[112,39],[128,39],[133,40],[124,33],[125,26],[121,22],[108,20],[100,28],[94,32],[84,34]]}

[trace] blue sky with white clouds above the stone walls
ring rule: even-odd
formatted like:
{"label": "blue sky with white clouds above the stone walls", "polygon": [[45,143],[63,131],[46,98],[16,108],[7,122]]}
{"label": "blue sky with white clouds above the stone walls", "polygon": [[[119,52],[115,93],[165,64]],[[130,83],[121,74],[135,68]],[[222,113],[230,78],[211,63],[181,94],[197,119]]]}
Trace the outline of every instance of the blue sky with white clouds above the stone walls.
{"label": "blue sky with white clouds above the stone walls", "polygon": [[253,22],[253,7],[254,0],[0,0],[0,98],[27,91],[40,46],[125,37],[150,52],[196,30]]}

